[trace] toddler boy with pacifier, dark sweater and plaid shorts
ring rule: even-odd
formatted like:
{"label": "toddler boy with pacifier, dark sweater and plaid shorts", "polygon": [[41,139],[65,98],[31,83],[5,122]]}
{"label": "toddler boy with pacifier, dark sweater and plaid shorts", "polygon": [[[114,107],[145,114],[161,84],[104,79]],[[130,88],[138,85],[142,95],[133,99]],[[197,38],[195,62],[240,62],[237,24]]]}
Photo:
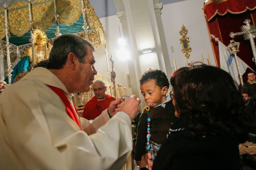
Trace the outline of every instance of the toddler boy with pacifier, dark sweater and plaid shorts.
{"label": "toddler boy with pacifier, dark sweater and plaid shorts", "polygon": [[[154,160],[157,151],[164,142],[172,123],[176,121],[171,97],[166,95],[169,88],[168,78],[161,70],[145,72],[140,79],[140,89],[148,106],[150,118],[150,149]],[[135,160],[139,165],[141,156],[146,152],[147,143],[147,111],[143,110],[137,128]]]}

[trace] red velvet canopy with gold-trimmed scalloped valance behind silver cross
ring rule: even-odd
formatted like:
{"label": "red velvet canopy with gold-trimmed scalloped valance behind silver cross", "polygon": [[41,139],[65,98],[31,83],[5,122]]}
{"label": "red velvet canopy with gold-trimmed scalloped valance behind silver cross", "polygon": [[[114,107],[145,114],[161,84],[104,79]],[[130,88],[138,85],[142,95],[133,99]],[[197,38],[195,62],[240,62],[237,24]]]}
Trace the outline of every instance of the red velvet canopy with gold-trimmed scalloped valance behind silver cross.
{"label": "red velvet canopy with gold-trimmed scalloped valance behind silver cross", "polygon": [[[240,32],[245,19],[251,20],[253,25],[256,23],[256,0],[210,0],[204,4],[203,10],[209,34],[215,35],[226,46],[232,40],[230,32]],[[216,65],[219,67],[218,42],[211,40]],[[234,40],[240,42],[238,57],[255,70],[249,40],[244,40],[242,35],[236,36]]]}

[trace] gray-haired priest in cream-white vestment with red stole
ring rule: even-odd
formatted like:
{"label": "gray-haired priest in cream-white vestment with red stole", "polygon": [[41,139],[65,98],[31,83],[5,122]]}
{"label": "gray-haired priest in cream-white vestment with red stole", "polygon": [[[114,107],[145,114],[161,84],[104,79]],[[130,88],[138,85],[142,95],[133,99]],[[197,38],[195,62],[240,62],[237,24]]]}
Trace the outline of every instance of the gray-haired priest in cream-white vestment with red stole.
{"label": "gray-haired priest in cream-white vestment with red stole", "polygon": [[78,117],[76,123],[49,88],[61,89],[75,112],[71,93],[88,92],[97,74],[93,52],[90,42],[62,35],[48,69],[32,70],[1,93],[0,169],[121,169],[132,150],[131,119],[140,99],[113,101],[93,121]]}

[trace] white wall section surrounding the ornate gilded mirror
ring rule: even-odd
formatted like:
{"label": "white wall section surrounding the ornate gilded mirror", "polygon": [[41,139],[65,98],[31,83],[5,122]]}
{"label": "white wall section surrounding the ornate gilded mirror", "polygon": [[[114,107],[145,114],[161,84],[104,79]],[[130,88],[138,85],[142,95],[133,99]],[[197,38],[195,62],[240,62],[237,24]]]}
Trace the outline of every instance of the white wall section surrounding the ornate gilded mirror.
{"label": "white wall section surrounding the ornate gilded mirror", "polygon": [[[189,46],[192,48],[188,62],[201,61],[201,54],[203,54],[204,61],[208,64],[207,54],[209,54],[211,64],[216,66],[202,12],[203,2],[203,0],[187,0],[163,6],[161,16],[172,66],[174,66],[173,59],[176,60],[177,68],[186,65],[185,54],[181,52],[182,45],[179,41],[181,38],[179,30],[181,30],[182,24],[188,29],[187,37],[190,41]],[[174,52],[171,51],[171,46],[173,46]]]}

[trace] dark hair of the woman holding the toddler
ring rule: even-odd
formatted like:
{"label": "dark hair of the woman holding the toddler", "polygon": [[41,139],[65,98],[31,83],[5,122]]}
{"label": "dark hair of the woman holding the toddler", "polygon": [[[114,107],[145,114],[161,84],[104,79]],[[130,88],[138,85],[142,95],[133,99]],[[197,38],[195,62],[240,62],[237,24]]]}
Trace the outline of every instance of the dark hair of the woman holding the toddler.
{"label": "dark hair of the woman holding the toddler", "polygon": [[186,136],[232,135],[241,143],[246,140],[251,120],[226,71],[208,65],[182,67],[170,82]]}

